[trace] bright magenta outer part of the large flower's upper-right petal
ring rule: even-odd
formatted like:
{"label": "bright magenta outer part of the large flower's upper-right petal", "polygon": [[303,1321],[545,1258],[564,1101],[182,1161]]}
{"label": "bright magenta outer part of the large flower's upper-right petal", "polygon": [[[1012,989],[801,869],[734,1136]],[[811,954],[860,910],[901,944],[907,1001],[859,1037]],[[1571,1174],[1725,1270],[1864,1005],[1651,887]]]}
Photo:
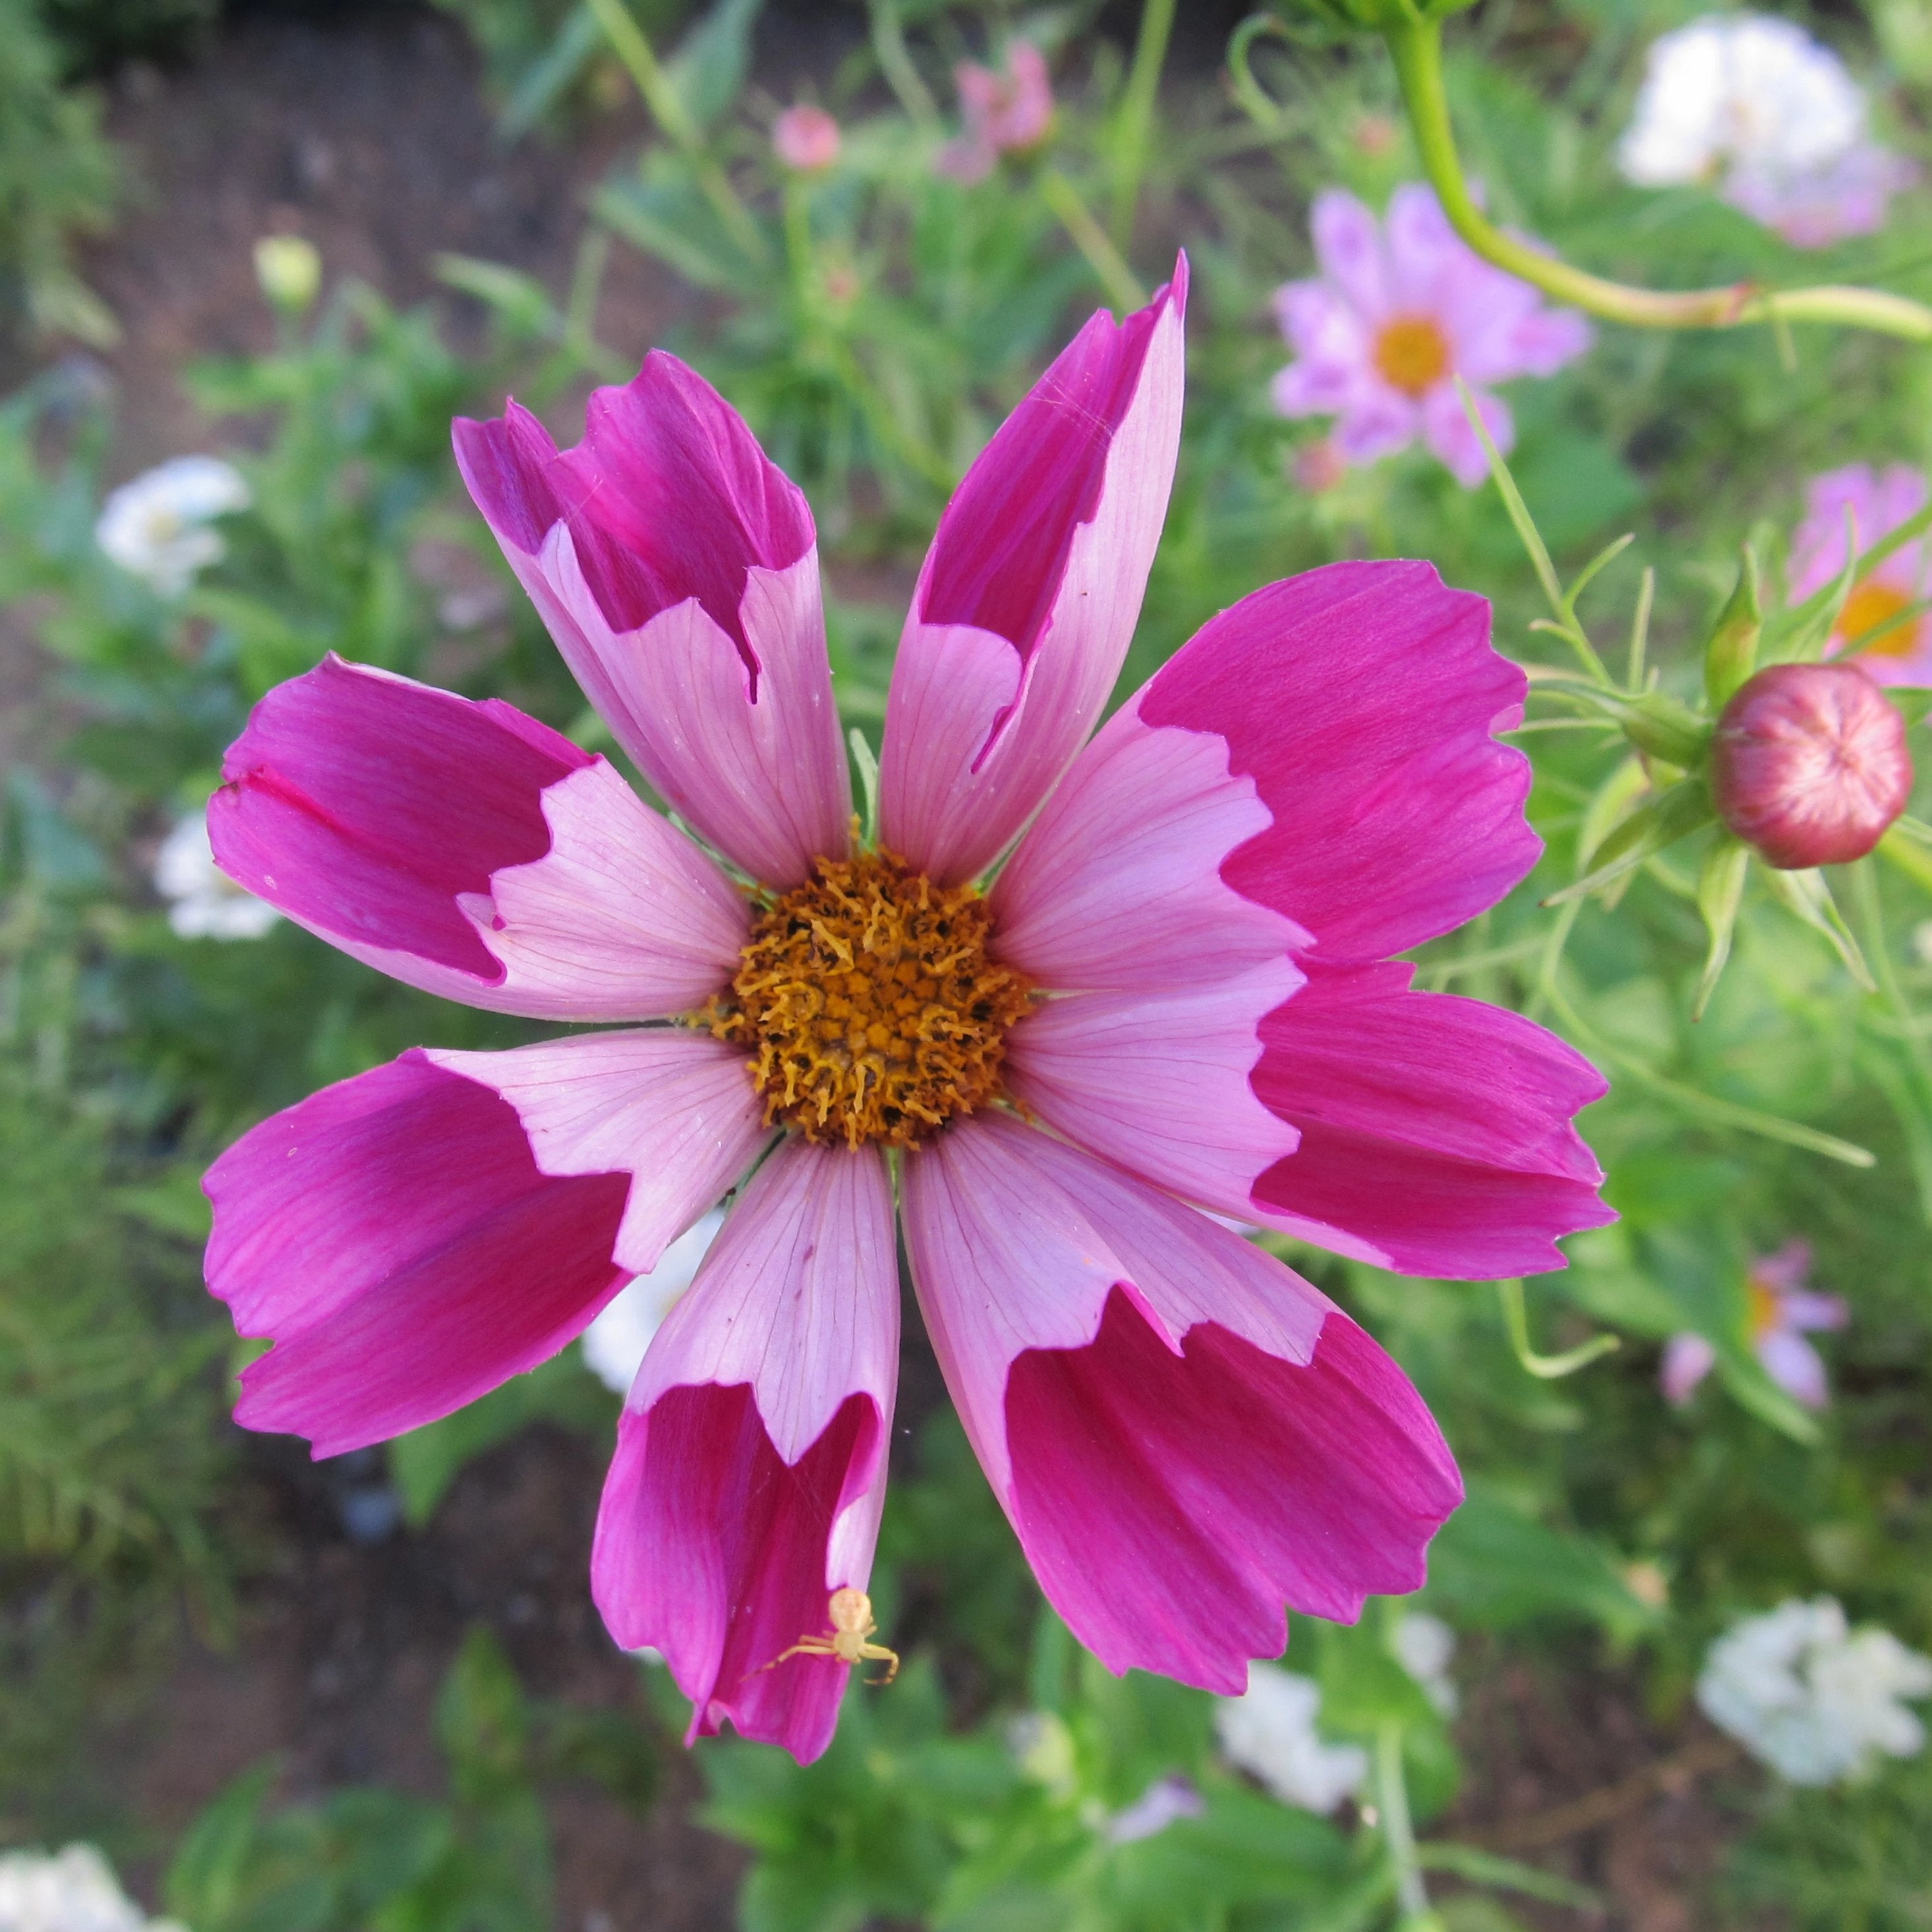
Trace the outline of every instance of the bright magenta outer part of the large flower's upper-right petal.
{"label": "bright magenta outer part of the large flower's upper-right petal", "polygon": [[1490,609],[1430,564],[1327,564],[1196,632],[1138,697],[1151,726],[1219,732],[1269,831],[1223,866],[1236,893],[1374,960],[1493,906],[1542,850],[1530,761],[1490,732],[1522,703]]}

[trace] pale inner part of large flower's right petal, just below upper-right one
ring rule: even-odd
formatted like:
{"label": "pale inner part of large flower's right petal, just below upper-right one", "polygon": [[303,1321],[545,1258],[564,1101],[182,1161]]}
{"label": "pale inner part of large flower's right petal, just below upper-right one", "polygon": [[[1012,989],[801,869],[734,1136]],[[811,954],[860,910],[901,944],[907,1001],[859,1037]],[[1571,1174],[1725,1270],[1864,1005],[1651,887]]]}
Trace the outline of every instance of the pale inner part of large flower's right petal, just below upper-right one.
{"label": "pale inner part of large flower's right petal, just below upper-right one", "polygon": [[1055,1132],[1155,1186],[1252,1215],[1262,1177],[1298,1134],[1250,1084],[1262,1018],[1302,983],[1283,954],[1175,993],[1078,993],[1007,1039],[1014,1099]]}

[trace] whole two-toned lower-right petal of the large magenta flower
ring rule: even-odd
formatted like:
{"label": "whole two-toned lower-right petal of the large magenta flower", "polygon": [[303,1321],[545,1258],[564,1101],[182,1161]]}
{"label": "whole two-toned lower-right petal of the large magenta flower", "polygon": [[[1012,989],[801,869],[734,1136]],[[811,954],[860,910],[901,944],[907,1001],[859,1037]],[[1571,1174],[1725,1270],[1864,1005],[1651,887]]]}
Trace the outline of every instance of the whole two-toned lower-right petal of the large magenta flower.
{"label": "whole two-toned lower-right petal of the large magenta flower", "polygon": [[1401,1370],[1238,1235],[1014,1121],[910,1153],[947,1385],[1028,1561],[1113,1671],[1236,1692],[1283,1604],[1414,1590],[1461,1480]]}

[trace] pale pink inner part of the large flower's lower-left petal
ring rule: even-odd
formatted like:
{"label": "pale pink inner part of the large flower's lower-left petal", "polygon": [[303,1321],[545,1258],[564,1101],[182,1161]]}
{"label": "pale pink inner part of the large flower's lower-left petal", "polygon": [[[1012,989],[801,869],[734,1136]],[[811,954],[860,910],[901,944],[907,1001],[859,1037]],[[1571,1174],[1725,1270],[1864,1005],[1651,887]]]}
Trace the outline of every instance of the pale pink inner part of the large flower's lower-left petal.
{"label": "pale pink inner part of the large flower's lower-left petal", "polygon": [[657,1267],[771,1138],[742,1049],[682,1028],[423,1057],[500,1094],[539,1173],[630,1177],[611,1250],[626,1275]]}

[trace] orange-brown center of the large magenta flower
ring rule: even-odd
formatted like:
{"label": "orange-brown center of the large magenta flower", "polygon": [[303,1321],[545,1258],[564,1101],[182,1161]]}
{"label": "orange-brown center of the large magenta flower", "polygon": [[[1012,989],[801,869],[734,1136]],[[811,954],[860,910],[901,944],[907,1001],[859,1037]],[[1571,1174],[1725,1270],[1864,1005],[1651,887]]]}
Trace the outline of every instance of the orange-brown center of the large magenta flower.
{"label": "orange-brown center of the large magenta flower", "polygon": [[989,956],[989,933],[970,885],[933,885],[891,852],[819,860],[767,904],[697,1018],[752,1051],[767,1124],[904,1148],[1003,1090],[1032,991]]}

